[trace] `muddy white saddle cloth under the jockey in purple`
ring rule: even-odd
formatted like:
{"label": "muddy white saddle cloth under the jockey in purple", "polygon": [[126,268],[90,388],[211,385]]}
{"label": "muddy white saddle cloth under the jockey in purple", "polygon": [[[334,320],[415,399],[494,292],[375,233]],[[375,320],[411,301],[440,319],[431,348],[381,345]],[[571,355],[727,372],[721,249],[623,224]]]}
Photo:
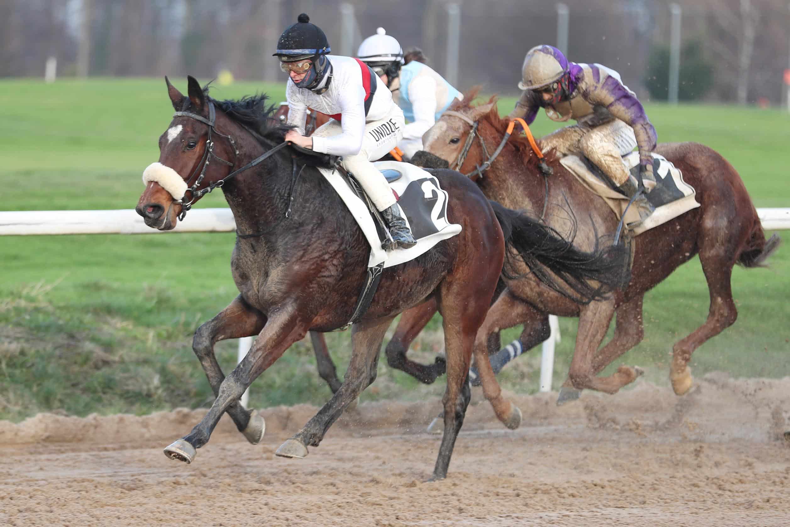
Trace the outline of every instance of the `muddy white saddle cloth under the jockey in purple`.
{"label": "muddy white saddle cloth under the jockey in purple", "polygon": [[[579,156],[565,156],[559,162],[563,167],[570,170],[584,186],[601,198],[604,198],[604,201],[614,211],[618,220],[623,217],[623,210],[626,209],[629,198],[612,188],[608,179],[600,175],[599,169],[592,167],[594,170],[591,170],[589,161]],[[630,170],[631,174],[638,179],[638,152],[630,152],[623,156],[623,163],[626,164],[626,168]],[[647,190],[650,190],[646,194],[647,200],[656,210],[641,223],[634,224],[639,221],[639,213],[636,207],[631,205],[623,221],[623,224],[626,224],[626,226],[634,224],[633,227],[629,227],[634,235],[649,231],[653,227],[658,227],[660,224],[664,224],[700,206],[694,198],[697,191],[694,190],[693,186],[683,181],[683,174],[680,170],[664,156],[656,153],[653,154],[653,175],[656,178],[655,186],[653,186],[652,181],[648,181],[645,182],[645,187]]]}

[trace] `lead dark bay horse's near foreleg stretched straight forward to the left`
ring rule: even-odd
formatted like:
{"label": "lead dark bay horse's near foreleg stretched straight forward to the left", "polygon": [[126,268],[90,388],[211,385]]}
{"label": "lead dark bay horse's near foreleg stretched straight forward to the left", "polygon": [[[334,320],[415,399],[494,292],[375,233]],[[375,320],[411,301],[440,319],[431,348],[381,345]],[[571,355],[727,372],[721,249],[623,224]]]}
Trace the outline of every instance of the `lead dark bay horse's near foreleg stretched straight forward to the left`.
{"label": "lead dark bay horse's near foreleg stretched straight forward to the left", "polygon": [[279,359],[291,344],[301,340],[307,334],[309,327],[310,321],[297,318],[293,306],[275,311],[273,316],[266,321],[244,359],[220,383],[220,389],[209,412],[188,435],[164,450],[167,457],[187,463],[191,462],[195,456],[195,449],[209,441],[222,414],[231,405],[236,404],[236,401],[254,379],[271,366],[276,359]]}

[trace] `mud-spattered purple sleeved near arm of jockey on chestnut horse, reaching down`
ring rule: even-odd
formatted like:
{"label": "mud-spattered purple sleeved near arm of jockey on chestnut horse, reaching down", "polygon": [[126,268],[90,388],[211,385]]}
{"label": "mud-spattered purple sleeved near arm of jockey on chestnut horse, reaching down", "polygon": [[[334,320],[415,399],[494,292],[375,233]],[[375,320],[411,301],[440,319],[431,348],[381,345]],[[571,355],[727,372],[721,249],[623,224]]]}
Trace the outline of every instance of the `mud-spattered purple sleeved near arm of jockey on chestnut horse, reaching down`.
{"label": "mud-spattered purple sleeved near arm of jockey on chestnut horse, reaching down", "polygon": [[623,86],[615,77],[606,77],[603,84],[591,90],[587,100],[592,104],[600,104],[617,119],[626,122],[634,129],[639,149],[639,162],[652,164],[650,153],[656,148],[656,129],[650,123],[645,108],[628,88]]}

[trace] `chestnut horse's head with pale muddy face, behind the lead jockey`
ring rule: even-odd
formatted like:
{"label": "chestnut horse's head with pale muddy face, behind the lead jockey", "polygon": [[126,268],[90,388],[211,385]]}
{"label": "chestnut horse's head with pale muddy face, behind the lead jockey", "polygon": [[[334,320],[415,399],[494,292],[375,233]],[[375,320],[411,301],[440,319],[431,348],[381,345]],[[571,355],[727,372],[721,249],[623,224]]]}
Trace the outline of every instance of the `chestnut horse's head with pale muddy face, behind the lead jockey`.
{"label": "chestnut horse's head with pale muddy face, behind the lead jockey", "polygon": [[423,135],[423,150],[445,160],[450,168],[470,175],[472,179],[480,177],[479,171],[474,173],[476,168],[493,152],[491,147],[495,149],[498,144],[498,140],[492,143],[491,139],[483,138],[479,130],[480,119],[497,111],[496,97],[491,97],[486,104],[471,106],[475,96],[476,91],[465,94],[463,101],[454,103]]}

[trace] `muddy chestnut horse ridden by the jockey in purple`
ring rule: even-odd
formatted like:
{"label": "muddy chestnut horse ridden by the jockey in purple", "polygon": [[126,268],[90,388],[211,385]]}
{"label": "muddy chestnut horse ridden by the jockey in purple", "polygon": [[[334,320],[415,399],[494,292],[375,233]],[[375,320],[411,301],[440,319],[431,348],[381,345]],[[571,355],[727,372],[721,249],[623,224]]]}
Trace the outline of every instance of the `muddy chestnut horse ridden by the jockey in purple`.
{"label": "muddy chestnut horse ridden by the jockey in purple", "polygon": [[[456,102],[449,113],[442,115],[423,137],[425,152],[418,152],[412,162],[446,167],[461,160],[455,168],[471,175],[487,198],[506,207],[526,209],[536,216],[545,214],[547,224],[559,232],[565,229],[566,219],[562,211],[552,211],[557,204],[570,206],[578,216],[591,219],[579,226],[575,238],[579,247],[589,247],[597,239],[597,232],[614,232],[618,220],[608,205],[581,186],[559,164],[553,151],[547,152],[544,158],[553,170],[553,175],[548,176],[540,170],[538,156],[525,137],[510,137],[491,160],[489,152],[502,143],[510,122],[499,117],[496,96],[487,104],[472,106],[476,95],[476,90],[465,94],[463,101]],[[764,265],[781,239],[773,235],[766,240],[743,180],[718,152],[694,142],[660,144],[655,152],[683,172],[683,179],[696,189],[701,206],[633,239],[630,282],[611,298],[585,305],[545,288],[532,276],[507,280],[506,292],[498,297],[480,328],[475,356],[486,336],[499,329],[524,324],[519,340],[527,350],[549,336],[549,314],[578,317],[574,356],[558,404],[577,398],[582,389],[615,393],[641,375],[641,370],[621,366],[608,378],[596,375],[642,340],[645,292],[699,254],[710,293],[708,317],[702,326],[675,343],[670,366],[675,393],[683,395],[690,390],[691,354],[709,338],[732,326],[737,318],[731,287],[733,266]],[[476,170],[488,164],[487,170]],[[420,325],[431,318],[432,308],[423,305],[408,320],[401,319],[407,338],[397,345],[403,352],[408,349],[408,337],[416,336]],[[615,313],[614,337],[599,349]]]}

